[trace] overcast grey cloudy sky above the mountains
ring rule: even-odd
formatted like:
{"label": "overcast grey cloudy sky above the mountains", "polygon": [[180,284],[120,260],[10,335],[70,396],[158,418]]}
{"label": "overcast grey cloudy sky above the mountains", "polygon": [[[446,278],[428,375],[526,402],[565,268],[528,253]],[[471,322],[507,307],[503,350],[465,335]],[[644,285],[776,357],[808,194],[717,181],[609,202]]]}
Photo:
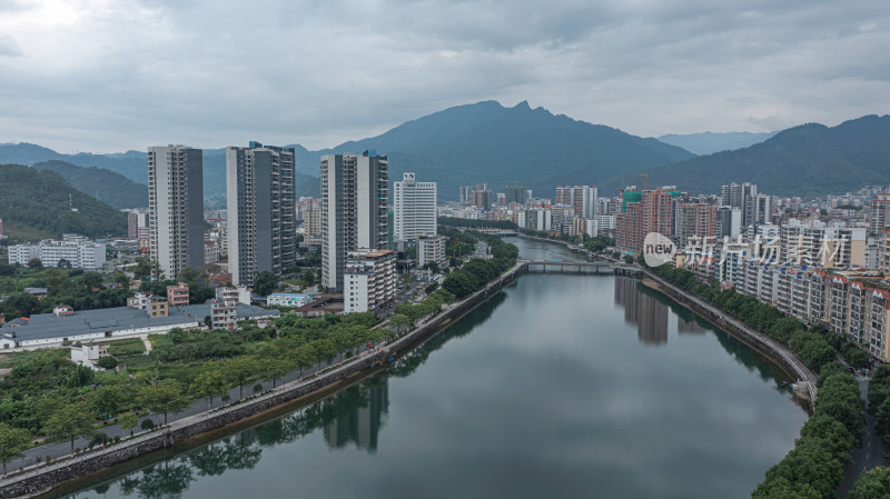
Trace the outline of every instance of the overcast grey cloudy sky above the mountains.
{"label": "overcast grey cloudy sky above the mountains", "polygon": [[890,112],[888,0],[0,0],[0,142],[310,149],[481,100],[651,137]]}

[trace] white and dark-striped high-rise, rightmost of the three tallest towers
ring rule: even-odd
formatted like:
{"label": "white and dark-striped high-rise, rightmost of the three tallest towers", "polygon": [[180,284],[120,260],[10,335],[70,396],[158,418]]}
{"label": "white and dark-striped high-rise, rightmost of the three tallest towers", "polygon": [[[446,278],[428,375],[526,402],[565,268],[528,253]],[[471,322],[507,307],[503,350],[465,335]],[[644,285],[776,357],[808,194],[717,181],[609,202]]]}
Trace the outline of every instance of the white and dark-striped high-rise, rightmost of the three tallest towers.
{"label": "white and dark-striped high-rise, rightmost of the three tallest towers", "polygon": [[386,249],[388,168],[374,150],[322,157],[322,286],[343,292],[348,251]]}

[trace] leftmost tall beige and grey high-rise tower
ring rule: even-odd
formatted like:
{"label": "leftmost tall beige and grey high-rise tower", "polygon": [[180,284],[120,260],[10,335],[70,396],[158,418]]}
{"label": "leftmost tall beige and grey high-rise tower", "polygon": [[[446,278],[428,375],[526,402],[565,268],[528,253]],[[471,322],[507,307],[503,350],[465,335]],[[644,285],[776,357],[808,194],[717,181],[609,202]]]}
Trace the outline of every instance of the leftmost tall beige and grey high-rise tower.
{"label": "leftmost tall beige and grey high-rise tower", "polygon": [[167,279],[186,267],[204,267],[202,166],[200,149],[148,148],[150,256]]}

